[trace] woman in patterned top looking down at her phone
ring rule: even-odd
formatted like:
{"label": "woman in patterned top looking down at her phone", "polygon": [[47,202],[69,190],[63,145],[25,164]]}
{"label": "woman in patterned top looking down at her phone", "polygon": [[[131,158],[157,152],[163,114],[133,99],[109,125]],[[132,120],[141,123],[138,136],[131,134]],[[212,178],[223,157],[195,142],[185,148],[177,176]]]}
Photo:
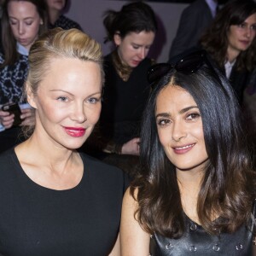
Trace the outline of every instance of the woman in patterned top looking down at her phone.
{"label": "woman in patterned top looking down at her phone", "polygon": [[[34,122],[33,110],[24,104],[22,90],[28,70],[29,49],[47,26],[44,0],[6,0],[1,23],[0,105],[19,103],[20,125],[31,125]],[[0,110],[0,152],[19,142],[20,126],[14,126],[14,121],[15,114]]]}

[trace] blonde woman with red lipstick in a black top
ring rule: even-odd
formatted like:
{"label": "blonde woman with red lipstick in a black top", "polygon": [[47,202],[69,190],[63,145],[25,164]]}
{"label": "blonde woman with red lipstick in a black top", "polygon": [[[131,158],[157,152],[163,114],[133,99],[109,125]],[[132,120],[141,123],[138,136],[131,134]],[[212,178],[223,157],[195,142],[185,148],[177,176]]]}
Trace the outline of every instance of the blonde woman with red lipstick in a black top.
{"label": "blonde woman with red lipstick in a black top", "polygon": [[36,124],[0,155],[0,253],[119,256],[124,173],[76,151],[101,112],[101,47],[55,28],[32,45],[29,65]]}

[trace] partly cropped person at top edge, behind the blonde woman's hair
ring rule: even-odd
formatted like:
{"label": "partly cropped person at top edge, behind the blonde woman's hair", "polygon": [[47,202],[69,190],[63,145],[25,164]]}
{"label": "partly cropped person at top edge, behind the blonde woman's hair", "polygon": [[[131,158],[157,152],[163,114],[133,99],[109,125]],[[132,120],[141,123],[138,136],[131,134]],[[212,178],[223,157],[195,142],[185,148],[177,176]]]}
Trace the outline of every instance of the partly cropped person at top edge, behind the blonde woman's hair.
{"label": "partly cropped person at top edge, behind the blonde woman's hair", "polygon": [[78,28],[82,30],[78,22],[70,20],[63,15],[64,9],[67,7],[68,0],[45,0],[47,4],[49,24],[48,27],[61,27],[63,29]]}

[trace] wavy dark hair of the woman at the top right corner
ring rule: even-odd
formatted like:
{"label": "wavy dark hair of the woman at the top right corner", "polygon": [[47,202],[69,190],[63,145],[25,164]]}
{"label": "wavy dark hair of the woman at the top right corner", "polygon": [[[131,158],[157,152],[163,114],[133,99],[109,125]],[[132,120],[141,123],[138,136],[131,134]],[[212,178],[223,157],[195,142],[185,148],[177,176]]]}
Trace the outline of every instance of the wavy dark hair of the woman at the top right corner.
{"label": "wavy dark hair of the woman at the top right corner", "polygon": [[[230,1],[221,9],[207,32],[201,37],[200,44],[203,49],[212,55],[219,67],[224,67],[227,57],[227,32],[232,25],[241,25],[250,15],[256,13],[256,3],[253,1]],[[256,63],[256,38],[250,47],[242,51],[236,58],[239,70],[251,71]]]}

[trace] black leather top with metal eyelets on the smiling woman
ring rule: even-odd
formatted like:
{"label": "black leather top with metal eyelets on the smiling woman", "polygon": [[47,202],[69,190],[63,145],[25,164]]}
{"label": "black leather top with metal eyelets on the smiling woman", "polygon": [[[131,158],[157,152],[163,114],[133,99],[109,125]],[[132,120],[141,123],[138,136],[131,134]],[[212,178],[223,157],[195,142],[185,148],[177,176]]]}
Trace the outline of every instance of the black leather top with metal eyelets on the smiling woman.
{"label": "black leather top with metal eyelets on the smiling woman", "polygon": [[[254,206],[255,208],[255,206]],[[255,209],[249,224],[243,224],[233,234],[220,233],[212,236],[201,225],[187,216],[184,217],[185,231],[178,239],[166,238],[154,234],[150,239],[151,256],[186,256],[186,255],[253,255],[253,224]]]}

